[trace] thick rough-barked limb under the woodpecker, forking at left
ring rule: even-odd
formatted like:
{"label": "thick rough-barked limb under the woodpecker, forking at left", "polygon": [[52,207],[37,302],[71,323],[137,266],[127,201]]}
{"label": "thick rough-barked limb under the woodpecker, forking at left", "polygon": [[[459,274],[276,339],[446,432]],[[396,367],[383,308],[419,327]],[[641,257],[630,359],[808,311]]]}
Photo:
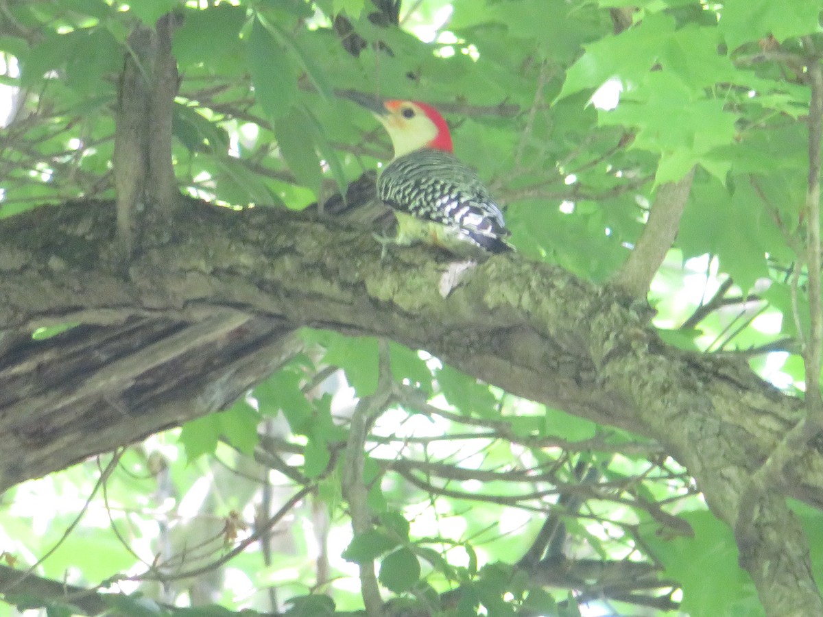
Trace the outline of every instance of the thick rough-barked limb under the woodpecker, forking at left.
{"label": "thick rough-barked limb under the woodpecker, forking at left", "polygon": [[[0,224],[2,486],[219,408],[287,357],[295,327],[385,336],[509,392],[658,440],[734,524],[751,470],[802,417],[745,363],[663,345],[611,290],[519,255],[473,268],[425,248],[386,262],[370,235],[257,208],[191,204],[174,242],[118,274],[114,207]],[[32,341],[41,325],[84,325]],[[768,615],[821,615],[807,545],[780,494],[823,506],[812,442],[764,499],[746,567]],[[750,536],[751,540],[751,536]]]}

